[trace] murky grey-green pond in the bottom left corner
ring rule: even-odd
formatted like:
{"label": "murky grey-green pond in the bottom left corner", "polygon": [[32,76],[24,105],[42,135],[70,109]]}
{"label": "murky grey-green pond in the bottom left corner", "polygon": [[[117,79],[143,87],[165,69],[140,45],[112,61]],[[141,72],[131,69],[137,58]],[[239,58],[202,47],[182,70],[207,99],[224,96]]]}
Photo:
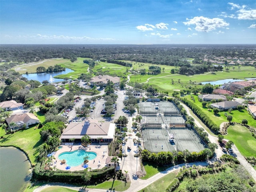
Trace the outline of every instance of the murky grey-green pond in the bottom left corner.
{"label": "murky grey-green pond in the bottom left corner", "polygon": [[27,156],[14,147],[0,147],[0,192],[23,192],[32,176]]}

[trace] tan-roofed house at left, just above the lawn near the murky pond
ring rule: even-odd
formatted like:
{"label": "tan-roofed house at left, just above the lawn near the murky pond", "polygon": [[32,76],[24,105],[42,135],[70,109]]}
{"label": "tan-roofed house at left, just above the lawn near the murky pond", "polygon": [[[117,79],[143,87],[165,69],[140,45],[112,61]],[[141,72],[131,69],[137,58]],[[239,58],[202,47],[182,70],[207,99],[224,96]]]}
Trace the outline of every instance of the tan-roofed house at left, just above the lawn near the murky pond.
{"label": "tan-roofed house at left, just above the lawn near the murky pond", "polygon": [[33,124],[38,124],[40,120],[32,113],[15,114],[5,119],[10,130],[28,128]]}

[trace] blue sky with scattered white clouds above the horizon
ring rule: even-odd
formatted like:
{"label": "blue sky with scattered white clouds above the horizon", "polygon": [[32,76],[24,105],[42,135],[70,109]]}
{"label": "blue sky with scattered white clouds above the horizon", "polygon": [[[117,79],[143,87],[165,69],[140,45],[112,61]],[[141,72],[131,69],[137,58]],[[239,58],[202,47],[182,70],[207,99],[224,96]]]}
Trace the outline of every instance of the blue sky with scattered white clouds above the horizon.
{"label": "blue sky with scattered white clouds above the horizon", "polygon": [[0,44],[256,44],[256,1],[1,0]]}

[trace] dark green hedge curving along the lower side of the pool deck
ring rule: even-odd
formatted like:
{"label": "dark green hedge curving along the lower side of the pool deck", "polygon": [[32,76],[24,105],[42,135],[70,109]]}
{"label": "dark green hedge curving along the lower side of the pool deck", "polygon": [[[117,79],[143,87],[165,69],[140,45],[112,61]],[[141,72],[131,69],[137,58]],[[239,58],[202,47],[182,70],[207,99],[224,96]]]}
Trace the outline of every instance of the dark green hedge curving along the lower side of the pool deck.
{"label": "dark green hedge curving along the lower side of the pool deck", "polygon": [[[68,184],[85,184],[84,180],[82,179],[82,175],[84,173],[84,170],[74,172],[62,170],[44,170],[43,166],[38,163],[34,168],[32,179],[37,181],[63,182]],[[91,170],[88,173],[91,174],[92,177],[90,182],[86,184],[104,182],[114,175],[114,167],[104,167],[98,170]]]}

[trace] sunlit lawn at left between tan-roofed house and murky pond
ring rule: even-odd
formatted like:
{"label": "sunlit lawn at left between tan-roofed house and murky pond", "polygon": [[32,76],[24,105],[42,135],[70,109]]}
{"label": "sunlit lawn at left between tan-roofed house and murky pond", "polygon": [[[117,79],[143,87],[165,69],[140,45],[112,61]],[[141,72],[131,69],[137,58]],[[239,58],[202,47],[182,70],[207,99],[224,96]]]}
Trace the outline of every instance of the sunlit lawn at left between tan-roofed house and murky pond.
{"label": "sunlit lawn at left between tan-roofed house and murky pond", "polygon": [[5,130],[1,128],[1,135],[4,138],[0,139],[0,146],[17,146],[26,151],[32,164],[36,163],[36,156],[38,152],[36,147],[42,144],[41,136],[39,134],[40,129],[34,127],[20,130],[14,134],[5,134]]}

